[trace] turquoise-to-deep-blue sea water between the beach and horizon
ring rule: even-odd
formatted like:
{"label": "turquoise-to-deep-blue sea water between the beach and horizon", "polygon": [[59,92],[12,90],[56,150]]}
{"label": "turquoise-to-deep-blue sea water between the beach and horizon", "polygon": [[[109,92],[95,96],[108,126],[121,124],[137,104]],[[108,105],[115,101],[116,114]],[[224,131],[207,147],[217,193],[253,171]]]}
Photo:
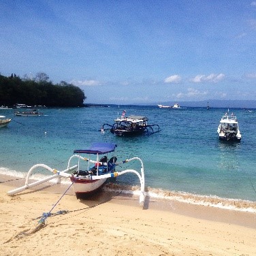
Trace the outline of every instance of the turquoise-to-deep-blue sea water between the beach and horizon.
{"label": "turquoise-to-deep-blue sea water between the beach and horizon", "polygon": [[[107,131],[102,134],[101,125],[112,124],[123,110],[127,115],[147,116],[148,123],[158,124],[161,131],[136,138],[119,138]],[[92,142],[114,142],[118,161],[129,157],[144,161],[146,186],[156,193],[256,202],[256,110],[229,110],[238,117],[242,133],[242,141],[236,144],[219,141],[217,127],[227,112],[221,108],[110,106],[40,111],[44,116],[20,117],[14,116],[14,110],[0,110],[0,115],[13,118],[0,129],[2,174],[15,176],[36,163],[64,170],[74,149]],[[120,176],[117,182],[139,185],[133,174]]]}

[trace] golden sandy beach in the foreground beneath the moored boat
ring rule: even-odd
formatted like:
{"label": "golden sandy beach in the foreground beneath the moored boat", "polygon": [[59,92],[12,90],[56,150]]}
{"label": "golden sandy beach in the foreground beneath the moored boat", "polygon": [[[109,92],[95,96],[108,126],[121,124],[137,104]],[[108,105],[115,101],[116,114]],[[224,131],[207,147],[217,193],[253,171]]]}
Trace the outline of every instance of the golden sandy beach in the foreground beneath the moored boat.
{"label": "golden sandy beach in the foreground beneath the moored boat", "polygon": [[7,195],[17,185],[1,177],[1,255],[256,255],[250,212],[154,198],[142,208],[120,193],[80,200],[72,189],[61,198],[67,185]]}

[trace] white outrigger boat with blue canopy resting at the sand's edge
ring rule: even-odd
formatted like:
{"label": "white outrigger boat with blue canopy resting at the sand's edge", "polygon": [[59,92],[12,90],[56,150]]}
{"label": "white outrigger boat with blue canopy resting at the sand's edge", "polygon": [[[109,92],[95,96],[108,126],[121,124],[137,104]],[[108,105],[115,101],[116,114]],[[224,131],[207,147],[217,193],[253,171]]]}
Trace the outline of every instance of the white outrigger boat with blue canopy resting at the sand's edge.
{"label": "white outrigger boat with blue canopy resting at the sand's edge", "polygon": [[[69,158],[67,163],[67,169],[61,172],[42,163],[33,165],[27,173],[25,185],[18,189],[8,191],[7,194],[14,195],[16,193],[25,191],[25,189],[35,187],[47,182],[48,180],[52,180],[53,178],[63,177],[71,180],[71,185],[74,188],[77,198],[88,198],[89,195],[92,195],[99,190],[108,180],[108,178],[115,178],[123,174],[133,173],[136,174],[140,179],[140,204],[143,206],[145,198],[143,162],[139,157],[132,157],[130,159],[117,162],[117,158],[114,155],[115,149],[116,144],[114,143],[95,142],[89,148],[74,150],[74,155]],[[87,157],[82,157],[84,154],[86,154]],[[71,165],[71,161],[74,161],[74,159],[77,159],[78,162],[75,165]],[[116,166],[124,165],[125,163],[131,161],[140,161],[140,172],[130,168],[128,170],[116,172]],[[52,175],[42,180],[29,183],[29,177],[33,173],[33,170],[37,168],[44,168],[45,170],[52,172]]]}

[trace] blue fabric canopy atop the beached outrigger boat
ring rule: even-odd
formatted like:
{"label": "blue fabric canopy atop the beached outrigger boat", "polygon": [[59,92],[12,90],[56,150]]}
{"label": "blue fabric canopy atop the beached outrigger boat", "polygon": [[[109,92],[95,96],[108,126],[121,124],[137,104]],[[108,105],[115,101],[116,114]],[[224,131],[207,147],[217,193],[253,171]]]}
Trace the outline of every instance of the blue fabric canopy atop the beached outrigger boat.
{"label": "blue fabric canopy atop the beached outrigger boat", "polygon": [[106,153],[113,152],[116,148],[116,144],[108,142],[96,142],[91,145],[88,149],[76,149],[74,153],[82,154],[93,154],[93,155],[102,155]]}

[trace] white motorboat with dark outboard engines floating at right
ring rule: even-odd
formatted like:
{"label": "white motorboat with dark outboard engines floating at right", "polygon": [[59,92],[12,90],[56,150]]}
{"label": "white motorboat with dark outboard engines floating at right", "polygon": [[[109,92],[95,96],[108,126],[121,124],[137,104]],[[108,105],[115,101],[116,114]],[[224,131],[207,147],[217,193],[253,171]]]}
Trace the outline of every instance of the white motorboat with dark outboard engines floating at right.
{"label": "white motorboat with dark outboard engines floating at right", "polygon": [[241,141],[242,135],[238,127],[238,120],[233,113],[229,115],[228,111],[224,116],[222,116],[217,133],[219,134],[219,140],[230,142]]}

